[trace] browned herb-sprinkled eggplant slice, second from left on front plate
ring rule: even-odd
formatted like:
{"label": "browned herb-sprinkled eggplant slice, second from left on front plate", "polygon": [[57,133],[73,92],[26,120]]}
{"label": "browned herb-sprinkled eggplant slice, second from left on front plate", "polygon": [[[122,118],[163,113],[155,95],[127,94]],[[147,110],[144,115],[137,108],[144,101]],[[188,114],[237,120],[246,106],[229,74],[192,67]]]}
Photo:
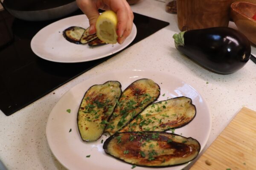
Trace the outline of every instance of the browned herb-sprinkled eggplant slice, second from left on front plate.
{"label": "browned herb-sprinkled eggplant slice, second from left on front plate", "polygon": [[160,87],[151,79],[139,79],[123,91],[105,131],[116,133],[131,119],[154,102],[160,95]]}

